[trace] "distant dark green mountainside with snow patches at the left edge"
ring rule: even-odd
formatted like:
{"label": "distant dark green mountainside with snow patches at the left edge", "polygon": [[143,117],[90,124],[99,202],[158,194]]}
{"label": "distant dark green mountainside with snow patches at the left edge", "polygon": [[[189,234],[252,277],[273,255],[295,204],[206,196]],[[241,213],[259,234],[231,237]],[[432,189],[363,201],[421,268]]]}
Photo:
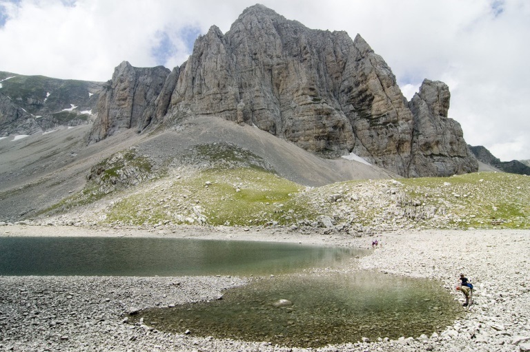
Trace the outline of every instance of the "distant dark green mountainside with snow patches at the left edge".
{"label": "distant dark green mountainside with snow patches at the left edge", "polygon": [[0,136],[92,123],[103,85],[0,72]]}

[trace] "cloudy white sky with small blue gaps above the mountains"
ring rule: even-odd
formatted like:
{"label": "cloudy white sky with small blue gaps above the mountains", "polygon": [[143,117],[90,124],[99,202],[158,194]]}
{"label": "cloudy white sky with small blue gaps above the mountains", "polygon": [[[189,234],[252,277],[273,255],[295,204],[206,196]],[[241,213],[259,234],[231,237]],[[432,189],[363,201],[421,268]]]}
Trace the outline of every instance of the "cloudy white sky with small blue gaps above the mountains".
{"label": "cloudy white sky with small blue gaps above the mountains", "polygon": [[[0,0],[0,71],[107,81],[115,66],[181,65],[210,25],[258,0]],[[530,159],[530,1],[261,0],[308,28],[360,33],[410,99],[423,79],[451,90],[471,145]]]}

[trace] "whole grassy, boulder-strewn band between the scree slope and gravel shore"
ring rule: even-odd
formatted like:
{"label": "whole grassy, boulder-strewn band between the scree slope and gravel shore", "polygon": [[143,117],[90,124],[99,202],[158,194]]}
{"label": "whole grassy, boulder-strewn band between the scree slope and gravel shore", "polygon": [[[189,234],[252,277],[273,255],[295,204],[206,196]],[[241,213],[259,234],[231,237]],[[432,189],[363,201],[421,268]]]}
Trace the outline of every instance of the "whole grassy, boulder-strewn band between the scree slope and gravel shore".
{"label": "whole grassy, boulder-strewn band between the scree slope and gravel shore", "polygon": [[100,210],[97,222],[110,225],[309,226],[357,232],[530,228],[528,176],[481,172],[309,188],[227,143],[188,149],[156,169],[134,148],[117,153],[92,167],[83,191],[47,211],[101,198],[112,203]]}

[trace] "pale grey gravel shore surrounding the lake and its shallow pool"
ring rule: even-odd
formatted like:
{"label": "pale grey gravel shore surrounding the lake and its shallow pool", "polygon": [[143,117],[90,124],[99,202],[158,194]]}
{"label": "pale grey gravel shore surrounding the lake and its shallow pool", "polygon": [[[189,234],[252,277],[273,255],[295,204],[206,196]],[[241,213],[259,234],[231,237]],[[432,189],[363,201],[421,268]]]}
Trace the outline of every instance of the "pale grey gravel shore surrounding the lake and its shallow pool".
{"label": "pale grey gravel shore surrounding the lake and its shallow pool", "polygon": [[[363,269],[440,280],[455,300],[460,273],[475,285],[474,304],[443,331],[319,349],[280,347],[165,333],[128,324],[130,311],[215,300],[252,278],[0,277],[0,351],[530,351],[530,231],[396,231],[351,237],[288,229],[183,227],[177,231],[9,225],[0,236],[157,236],[269,240],[380,247]],[[347,270],[347,268],[345,268]]]}

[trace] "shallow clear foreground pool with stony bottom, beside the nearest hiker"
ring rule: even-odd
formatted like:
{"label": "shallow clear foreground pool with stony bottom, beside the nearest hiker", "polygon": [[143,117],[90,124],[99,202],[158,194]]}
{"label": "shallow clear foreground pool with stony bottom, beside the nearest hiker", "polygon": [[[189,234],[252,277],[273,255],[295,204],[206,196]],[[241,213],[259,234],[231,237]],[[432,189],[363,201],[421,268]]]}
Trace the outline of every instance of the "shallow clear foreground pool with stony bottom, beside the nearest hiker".
{"label": "shallow clear foreground pool with stony bottom, beside the nearest hiker", "polygon": [[226,291],[222,300],[149,309],[135,321],[198,336],[315,347],[430,334],[452,324],[459,311],[435,280],[359,271],[257,280]]}

